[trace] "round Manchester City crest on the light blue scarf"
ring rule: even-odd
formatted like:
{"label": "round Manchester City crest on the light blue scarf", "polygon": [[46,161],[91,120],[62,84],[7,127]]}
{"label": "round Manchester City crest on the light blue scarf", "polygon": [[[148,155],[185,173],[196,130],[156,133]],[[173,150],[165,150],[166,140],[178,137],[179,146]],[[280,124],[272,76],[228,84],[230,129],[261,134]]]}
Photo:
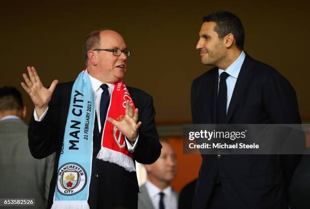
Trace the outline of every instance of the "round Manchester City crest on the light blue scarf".
{"label": "round Manchester City crest on the light blue scarf", "polygon": [[77,163],[66,163],[58,170],[57,189],[63,195],[73,195],[82,191],[86,182],[86,172]]}

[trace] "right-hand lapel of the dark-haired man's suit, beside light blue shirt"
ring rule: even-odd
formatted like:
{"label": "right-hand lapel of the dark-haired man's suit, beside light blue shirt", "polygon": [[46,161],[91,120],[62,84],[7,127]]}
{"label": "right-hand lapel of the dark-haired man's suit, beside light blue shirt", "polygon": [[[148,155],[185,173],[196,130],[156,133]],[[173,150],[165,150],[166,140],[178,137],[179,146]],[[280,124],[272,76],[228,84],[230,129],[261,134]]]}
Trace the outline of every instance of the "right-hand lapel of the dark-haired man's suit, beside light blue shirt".
{"label": "right-hand lapel of the dark-haired man's suit, beside light blue shirt", "polygon": [[244,95],[244,92],[249,84],[249,81],[253,75],[254,63],[253,59],[246,55],[245,60],[241,66],[241,70],[236,82],[236,86],[234,92],[232,93],[232,97],[228,106],[226,122],[228,123],[232,114],[234,113],[241,97]]}

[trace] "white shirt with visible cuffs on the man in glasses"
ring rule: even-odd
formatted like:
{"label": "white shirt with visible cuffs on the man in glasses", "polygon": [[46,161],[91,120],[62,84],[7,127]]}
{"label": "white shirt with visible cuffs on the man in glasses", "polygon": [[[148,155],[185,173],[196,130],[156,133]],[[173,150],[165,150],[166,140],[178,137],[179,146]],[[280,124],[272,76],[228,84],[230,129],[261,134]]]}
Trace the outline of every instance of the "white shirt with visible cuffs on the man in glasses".
{"label": "white shirt with visible cuffs on the man in glasses", "polygon": [[[93,88],[93,90],[95,92],[95,109],[96,109],[97,119],[98,119],[98,129],[99,129],[99,132],[100,132],[100,130],[101,130],[101,123],[100,123],[100,99],[101,99],[101,94],[103,92],[103,90],[100,88],[100,86],[103,84],[103,82],[101,82],[100,80],[92,77],[91,75],[89,75],[89,78],[90,78],[90,81],[91,81],[91,84],[92,84],[92,88]],[[111,93],[112,93],[112,90],[113,90],[115,84],[106,83],[106,85],[108,86],[109,95],[111,96]],[[37,118],[36,111],[34,109],[34,112],[33,112],[34,120],[35,121],[43,120],[43,118],[45,117],[48,109],[49,108],[47,108],[47,110],[41,115],[40,118]],[[131,145],[129,140],[125,137],[125,141],[126,141],[126,144],[127,144],[128,151],[133,152],[135,150],[135,148],[137,146],[138,138],[139,138],[139,135],[138,135],[137,140],[135,141],[134,145]]]}

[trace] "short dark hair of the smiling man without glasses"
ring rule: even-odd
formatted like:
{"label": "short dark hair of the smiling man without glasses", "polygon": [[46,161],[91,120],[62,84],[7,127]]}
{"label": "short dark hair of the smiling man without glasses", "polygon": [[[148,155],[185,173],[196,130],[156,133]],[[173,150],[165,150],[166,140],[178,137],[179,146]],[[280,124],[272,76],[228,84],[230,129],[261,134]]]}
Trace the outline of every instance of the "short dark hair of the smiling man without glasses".
{"label": "short dark hair of the smiling man without glasses", "polygon": [[205,16],[203,22],[215,22],[214,31],[219,38],[232,33],[236,39],[237,48],[243,50],[245,34],[241,20],[236,15],[226,11],[217,11]]}

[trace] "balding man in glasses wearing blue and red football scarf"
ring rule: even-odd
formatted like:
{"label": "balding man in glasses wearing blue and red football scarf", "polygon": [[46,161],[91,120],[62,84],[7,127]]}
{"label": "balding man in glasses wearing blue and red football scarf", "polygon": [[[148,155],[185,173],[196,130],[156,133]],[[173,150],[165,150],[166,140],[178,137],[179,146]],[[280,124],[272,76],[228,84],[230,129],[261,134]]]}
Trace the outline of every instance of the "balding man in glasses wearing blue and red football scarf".
{"label": "balding man in glasses wearing blue and red football scarf", "polygon": [[34,67],[23,74],[34,103],[30,151],[56,151],[49,208],[137,208],[134,160],[153,163],[161,144],[152,97],[122,80],[129,56],[119,33],[98,30],[85,41],[87,68],[75,81],[46,89]]}

